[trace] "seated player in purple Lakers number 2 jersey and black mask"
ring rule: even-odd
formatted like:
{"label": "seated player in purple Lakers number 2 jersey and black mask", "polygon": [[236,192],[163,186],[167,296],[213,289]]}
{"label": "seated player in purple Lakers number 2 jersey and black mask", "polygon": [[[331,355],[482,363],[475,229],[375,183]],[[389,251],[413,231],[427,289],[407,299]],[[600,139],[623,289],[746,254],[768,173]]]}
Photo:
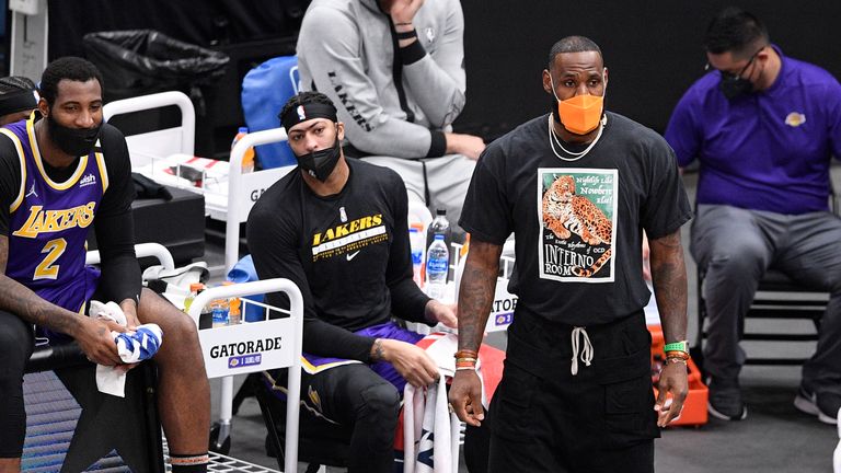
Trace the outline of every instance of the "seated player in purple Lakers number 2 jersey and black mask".
{"label": "seated player in purple Lakers number 2 jersey and black mask", "polygon": [[[43,119],[0,129],[0,472],[20,471],[26,429],[21,384],[33,324],[53,338],[76,339],[91,361],[115,366],[122,361],[111,332],[140,323],[164,333],[154,360],[172,471],[204,472],[210,391],[196,326],[141,290],[128,150],[123,135],[103,124],[100,71],[84,59],[57,59],[44,71],[37,107]],[[84,265],[94,223],[101,275]],[[81,315],[91,299],[118,302],[128,326]]]}

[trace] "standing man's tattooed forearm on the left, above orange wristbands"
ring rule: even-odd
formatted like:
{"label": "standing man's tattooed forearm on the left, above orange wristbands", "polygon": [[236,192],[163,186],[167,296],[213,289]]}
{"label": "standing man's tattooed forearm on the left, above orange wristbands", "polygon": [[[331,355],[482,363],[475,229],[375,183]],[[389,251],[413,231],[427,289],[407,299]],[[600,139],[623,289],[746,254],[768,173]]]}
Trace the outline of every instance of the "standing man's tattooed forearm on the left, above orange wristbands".
{"label": "standing man's tattooed forearm on the left, above orange wristbands", "polygon": [[472,241],[459,288],[459,349],[479,350],[494,302],[500,245]]}

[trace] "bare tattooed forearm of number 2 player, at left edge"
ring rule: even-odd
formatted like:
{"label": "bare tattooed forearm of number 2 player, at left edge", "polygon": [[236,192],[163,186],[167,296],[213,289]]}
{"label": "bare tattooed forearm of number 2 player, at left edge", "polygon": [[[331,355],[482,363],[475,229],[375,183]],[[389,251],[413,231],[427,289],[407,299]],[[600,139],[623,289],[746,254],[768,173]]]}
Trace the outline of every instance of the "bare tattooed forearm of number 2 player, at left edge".
{"label": "bare tattooed forearm of number 2 player, at left edge", "polygon": [[11,312],[28,323],[49,327],[56,332],[72,335],[79,316],[54,305],[27,287],[5,276],[9,257],[9,239],[0,235],[0,309]]}

